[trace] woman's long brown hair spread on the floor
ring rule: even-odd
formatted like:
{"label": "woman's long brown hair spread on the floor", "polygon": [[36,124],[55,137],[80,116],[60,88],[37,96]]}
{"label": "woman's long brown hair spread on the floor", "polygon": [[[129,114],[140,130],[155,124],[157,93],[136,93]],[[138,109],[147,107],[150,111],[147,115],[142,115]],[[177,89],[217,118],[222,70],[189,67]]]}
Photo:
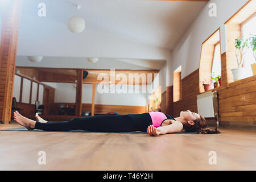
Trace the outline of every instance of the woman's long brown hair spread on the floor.
{"label": "woman's long brown hair spread on the floor", "polygon": [[195,125],[184,125],[183,128],[185,132],[196,132],[199,134],[216,134],[220,133],[218,130],[218,126],[215,128],[206,128],[207,127],[207,121],[203,116],[200,115],[199,119],[195,119],[193,121]]}

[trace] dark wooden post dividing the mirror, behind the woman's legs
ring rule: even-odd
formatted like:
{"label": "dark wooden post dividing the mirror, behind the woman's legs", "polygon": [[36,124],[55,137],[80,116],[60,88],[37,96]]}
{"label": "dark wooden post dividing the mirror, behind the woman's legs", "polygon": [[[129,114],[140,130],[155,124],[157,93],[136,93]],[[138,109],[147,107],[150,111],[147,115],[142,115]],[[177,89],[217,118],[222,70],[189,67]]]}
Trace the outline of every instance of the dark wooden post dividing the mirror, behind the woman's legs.
{"label": "dark wooden post dividing the mirror, behind the woman's legs", "polygon": [[77,69],[76,115],[82,114],[82,69]]}

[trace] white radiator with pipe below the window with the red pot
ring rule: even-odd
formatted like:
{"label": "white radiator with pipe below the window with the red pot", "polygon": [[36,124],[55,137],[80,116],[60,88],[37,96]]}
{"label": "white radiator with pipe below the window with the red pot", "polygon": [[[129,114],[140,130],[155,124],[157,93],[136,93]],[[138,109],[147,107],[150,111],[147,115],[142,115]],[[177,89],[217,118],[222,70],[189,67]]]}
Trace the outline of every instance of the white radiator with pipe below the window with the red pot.
{"label": "white radiator with pipe below the window with the red pot", "polygon": [[218,122],[218,95],[217,91],[210,91],[202,93],[197,97],[197,111],[198,114],[204,118],[217,118]]}

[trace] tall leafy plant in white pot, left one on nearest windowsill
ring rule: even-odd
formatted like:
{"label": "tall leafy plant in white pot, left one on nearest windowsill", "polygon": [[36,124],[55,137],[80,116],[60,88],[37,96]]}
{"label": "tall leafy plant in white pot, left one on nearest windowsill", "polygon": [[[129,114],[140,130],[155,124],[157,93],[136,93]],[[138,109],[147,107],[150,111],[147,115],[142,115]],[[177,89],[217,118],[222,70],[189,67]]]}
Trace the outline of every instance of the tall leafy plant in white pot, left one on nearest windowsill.
{"label": "tall leafy plant in white pot, left one on nearest windowsill", "polygon": [[249,39],[237,38],[236,43],[236,57],[238,68],[232,69],[234,81],[241,80],[246,77],[246,69],[243,67],[243,62],[245,60],[245,53],[249,48]]}

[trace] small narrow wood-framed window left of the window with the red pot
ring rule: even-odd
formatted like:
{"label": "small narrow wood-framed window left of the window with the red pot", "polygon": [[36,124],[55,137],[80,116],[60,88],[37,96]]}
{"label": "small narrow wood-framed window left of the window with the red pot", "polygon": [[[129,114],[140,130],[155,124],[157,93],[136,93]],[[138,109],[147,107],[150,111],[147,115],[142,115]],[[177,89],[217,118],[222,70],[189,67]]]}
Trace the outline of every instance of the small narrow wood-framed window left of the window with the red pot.
{"label": "small narrow wood-framed window left of the window with the red pot", "polygon": [[181,100],[181,66],[174,71],[174,102]]}

